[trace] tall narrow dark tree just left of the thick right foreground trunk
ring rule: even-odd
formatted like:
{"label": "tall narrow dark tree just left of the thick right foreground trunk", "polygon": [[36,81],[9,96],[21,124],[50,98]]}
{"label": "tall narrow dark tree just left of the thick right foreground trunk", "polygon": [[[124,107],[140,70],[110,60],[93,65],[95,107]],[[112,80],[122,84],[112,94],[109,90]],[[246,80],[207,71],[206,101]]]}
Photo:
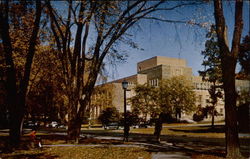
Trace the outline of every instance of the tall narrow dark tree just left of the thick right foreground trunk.
{"label": "tall narrow dark tree just left of the thick right foreground trunk", "polygon": [[204,56],[204,61],[202,65],[204,66],[204,71],[199,71],[199,74],[202,76],[203,81],[208,81],[211,83],[208,90],[210,95],[210,100],[206,109],[209,114],[212,116],[212,128],[214,128],[214,116],[216,115],[216,105],[218,99],[222,98],[223,95],[220,91],[221,81],[222,81],[222,72],[221,72],[221,59],[219,58],[219,46],[217,41],[217,35],[215,31],[215,26],[211,26],[211,30],[207,33],[206,37],[208,40],[205,43],[205,50],[201,52]]}

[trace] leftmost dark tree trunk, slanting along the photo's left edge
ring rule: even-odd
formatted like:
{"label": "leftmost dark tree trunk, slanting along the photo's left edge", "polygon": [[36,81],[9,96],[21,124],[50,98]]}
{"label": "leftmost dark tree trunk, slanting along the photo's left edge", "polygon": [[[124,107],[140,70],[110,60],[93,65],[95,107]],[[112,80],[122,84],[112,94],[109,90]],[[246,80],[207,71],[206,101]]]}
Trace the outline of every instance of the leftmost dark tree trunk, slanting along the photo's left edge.
{"label": "leftmost dark tree trunk, slanting along the photo's left edge", "polygon": [[6,90],[7,90],[7,107],[10,111],[10,145],[18,145],[20,138],[20,128],[18,128],[18,101],[16,85],[16,69],[12,57],[12,45],[9,35],[9,4],[8,2],[0,6],[0,31],[3,43],[6,69]]}

